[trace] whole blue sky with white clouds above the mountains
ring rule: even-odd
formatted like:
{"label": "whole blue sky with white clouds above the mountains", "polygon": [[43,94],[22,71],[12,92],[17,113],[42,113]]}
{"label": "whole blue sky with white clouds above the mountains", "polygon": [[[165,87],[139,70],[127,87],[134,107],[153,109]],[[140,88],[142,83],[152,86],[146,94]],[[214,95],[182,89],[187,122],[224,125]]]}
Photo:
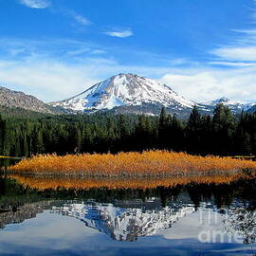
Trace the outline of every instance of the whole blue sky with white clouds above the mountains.
{"label": "whole blue sky with white clouds above the mountains", "polygon": [[254,0],[0,0],[0,83],[44,101],[132,72],[256,101]]}

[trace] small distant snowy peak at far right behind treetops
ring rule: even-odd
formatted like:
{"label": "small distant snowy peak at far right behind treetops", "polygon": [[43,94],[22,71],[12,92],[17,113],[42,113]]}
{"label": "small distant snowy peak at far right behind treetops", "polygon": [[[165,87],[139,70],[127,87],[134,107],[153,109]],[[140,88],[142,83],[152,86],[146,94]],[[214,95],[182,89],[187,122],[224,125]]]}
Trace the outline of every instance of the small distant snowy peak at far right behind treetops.
{"label": "small distant snowy peak at far right behind treetops", "polygon": [[206,106],[207,108],[213,109],[217,104],[223,103],[224,105],[228,106],[230,110],[234,113],[242,112],[242,110],[247,111],[248,109],[252,108],[256,103],[242,103],[239,101],[230,101],[226,97],[222,97],[215,101],[207,101],[202,102],[201,105]]}

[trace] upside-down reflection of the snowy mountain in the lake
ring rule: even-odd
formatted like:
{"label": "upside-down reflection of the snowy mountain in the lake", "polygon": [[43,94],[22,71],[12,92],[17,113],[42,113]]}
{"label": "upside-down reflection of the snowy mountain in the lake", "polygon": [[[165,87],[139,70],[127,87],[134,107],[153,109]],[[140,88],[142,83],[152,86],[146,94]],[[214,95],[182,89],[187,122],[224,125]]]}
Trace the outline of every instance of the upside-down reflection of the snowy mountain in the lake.
{"label": "upside-down reflection of the snowy mountain in the lake", "polygon": [[165,208],[145,210],[120,208],[113,204],[70,203],[53,208],[52,213],[75,217],[85,226],[98,229],[114,240],[136,241],[140,236],[151,236],[169,229],[174,222],[194,211],[193,206],[175,204]]}

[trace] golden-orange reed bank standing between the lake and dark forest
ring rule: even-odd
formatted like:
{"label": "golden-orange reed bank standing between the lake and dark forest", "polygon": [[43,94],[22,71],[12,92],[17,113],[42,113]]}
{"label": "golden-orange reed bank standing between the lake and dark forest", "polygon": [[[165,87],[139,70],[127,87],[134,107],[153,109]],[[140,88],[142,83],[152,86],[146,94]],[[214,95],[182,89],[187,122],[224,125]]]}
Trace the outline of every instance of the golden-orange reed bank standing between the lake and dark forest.
{"label": "golden-orange reed bank standing between the lake and dark forest", "polygon": [[198,156],[167,151],[112,154],[36,155],[9,168],[29,174],[86,176],[168,176],[172,174],[220,174],[256,170],[256,162],[231,157]]}

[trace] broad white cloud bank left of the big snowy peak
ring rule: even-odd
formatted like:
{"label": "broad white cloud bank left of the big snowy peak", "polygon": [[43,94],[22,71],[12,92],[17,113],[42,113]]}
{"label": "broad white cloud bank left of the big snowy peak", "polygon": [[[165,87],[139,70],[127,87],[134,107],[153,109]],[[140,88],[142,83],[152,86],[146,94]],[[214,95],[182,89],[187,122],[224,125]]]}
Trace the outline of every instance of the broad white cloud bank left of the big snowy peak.
{"label": "broad white cloud bank left of the big snowy peak", "polygon": [[1,85],[19,88],[44,101],[56,101],[98,82],[90,66],[69,65],[54,60],[39,61],[39,58],[24,63],[0,61]]}

